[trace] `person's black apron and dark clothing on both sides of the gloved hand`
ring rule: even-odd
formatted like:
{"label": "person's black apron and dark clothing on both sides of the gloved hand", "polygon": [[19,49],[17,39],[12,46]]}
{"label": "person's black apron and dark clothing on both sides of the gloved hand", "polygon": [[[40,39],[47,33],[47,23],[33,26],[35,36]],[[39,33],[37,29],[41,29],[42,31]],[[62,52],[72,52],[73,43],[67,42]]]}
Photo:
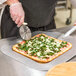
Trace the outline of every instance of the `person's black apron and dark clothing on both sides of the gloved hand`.
{"label": "person's black apron and dark clothing on both sides of the gloved hand", "polygon": [[[19,0],[26,13],[25,21],[32,32],[55,29],[55,5],[57,0]],[[19,28],[12,21],[6,6],[1,21],[1,37],[19,36]]]}

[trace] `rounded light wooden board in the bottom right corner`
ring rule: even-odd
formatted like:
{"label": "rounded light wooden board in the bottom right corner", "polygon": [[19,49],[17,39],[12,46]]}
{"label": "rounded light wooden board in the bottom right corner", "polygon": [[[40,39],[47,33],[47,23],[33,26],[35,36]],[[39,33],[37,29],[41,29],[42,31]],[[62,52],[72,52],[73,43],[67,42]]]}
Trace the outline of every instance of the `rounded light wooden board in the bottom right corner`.
{"label": "rounded light wooden board in the bottom right corner", "polygon": [[66,62],[50,69],[46,76],[76,76],[76,62]]}

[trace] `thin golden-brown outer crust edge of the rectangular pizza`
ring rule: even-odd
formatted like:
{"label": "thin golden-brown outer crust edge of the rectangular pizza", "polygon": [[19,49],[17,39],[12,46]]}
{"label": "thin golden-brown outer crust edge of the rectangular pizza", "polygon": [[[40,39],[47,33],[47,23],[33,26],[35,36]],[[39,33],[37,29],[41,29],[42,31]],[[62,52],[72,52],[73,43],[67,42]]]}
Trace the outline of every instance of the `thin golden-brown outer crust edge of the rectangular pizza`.
{"label": "thin golden-brown outer crust edge of the rectangular pizza", "polygon": [[[40,34],[38,34],[38,35],[40,35]],[[45,34],[43,34],[43,35],[45,35]],[[36,37],[36,36],[37,36],[37,35],[35,35],[34,37]],[[45,35],[45,36],[47,36],[47,35]],[[34,38],[34,37],[32,37],[32,38]],[[48,36],[48,37],[50,37],[50,36]],[[50,38],[53,38],[53,37],[50,37]],[[56,38],[53,38],[53,39],[56,39]],[[56,39],[56,40],[58,40],[58,39]],[[58,40],[58,41],[61,42],[62,40]],[[69,42],[68,42],[68,43],[69,43]],[[72,44],[71,44],[71,43],[69,43],[69,44],[70,44],[70,47],[67,48],[65,51],[61,51],[61,52],[53,55],[52,57],[50,57],[49,59],[46,59],[46,60],[44,60],[44,59],[39,59],[39,58],[36,58],[36,57],[34,57],[34,56],[30,56],[30,55],[28,55],[28,54],[25,54],[25,53],[17,50],[17,49],[16,49],[16,46],[17,46],[18,44],[15,44],[15,45],[12,47],[12,49],[13,49],[13,51],[15,51],[15,52],[17,52],[17,53],[20,53],[20,54],[22,54],[22,55],[24,55],[24,56],[26,56],[26,57],[28,57],[28,58],[30,58],[30,59],[32,59],[32,60],[35,60],[35,61],[40,62],[40,63],[47,63],[47,62],[50,62],[50,61],[52,61],[53,59],[57,58],[58,56],[64,54],[64,53],[67,52],[68,50],[70,50],[70,49],[72,48]]]}

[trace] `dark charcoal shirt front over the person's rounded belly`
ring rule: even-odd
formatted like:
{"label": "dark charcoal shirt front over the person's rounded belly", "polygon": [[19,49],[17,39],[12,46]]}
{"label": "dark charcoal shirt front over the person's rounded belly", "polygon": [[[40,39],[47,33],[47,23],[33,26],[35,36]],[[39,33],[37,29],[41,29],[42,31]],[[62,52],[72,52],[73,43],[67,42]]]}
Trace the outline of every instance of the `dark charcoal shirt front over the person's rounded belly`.
{"label": "dark charcoal shirt front over the person's rounded belly", "polygon": [[25,21],[31,27],[48,25],[55,15],[57,0],[20,0],[25,10]]}

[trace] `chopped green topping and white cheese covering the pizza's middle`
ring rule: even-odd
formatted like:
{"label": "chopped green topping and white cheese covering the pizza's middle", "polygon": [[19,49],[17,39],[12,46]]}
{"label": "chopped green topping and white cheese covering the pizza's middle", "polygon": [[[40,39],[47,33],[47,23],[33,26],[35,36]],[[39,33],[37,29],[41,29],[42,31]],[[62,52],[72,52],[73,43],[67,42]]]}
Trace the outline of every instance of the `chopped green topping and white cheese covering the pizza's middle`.
{"label": "chopped green topping and white cheese covering the pizza's middle", "polygon": [[67,42],[59,42],[41,34],[40,37],[25,41],[24,44],[18,44],[18,46],[18,49],[27,51],[29,55],[46,59],[60,52],[61,48],[67,47]]}

